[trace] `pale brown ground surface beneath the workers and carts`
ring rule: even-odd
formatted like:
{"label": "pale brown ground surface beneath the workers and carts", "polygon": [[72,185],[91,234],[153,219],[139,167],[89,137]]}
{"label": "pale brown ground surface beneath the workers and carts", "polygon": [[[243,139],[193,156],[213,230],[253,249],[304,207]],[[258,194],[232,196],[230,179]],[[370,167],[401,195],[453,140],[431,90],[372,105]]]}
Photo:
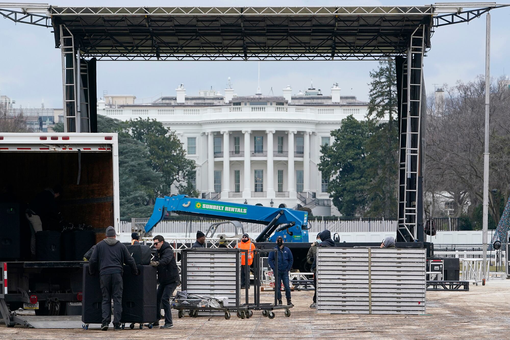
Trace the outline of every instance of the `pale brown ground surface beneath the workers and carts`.
{"label": "pale brown ground surface beneath the workers and carts", "polygon": [[[268,292],[263,292],[270,300]],[[309,308],[313,292],[293,292],[286,318],[272,320],[256,311],[250,319],[185,317],[170,330],[31,329],[0,325],[0,339],[504,339],[510,338],[510,280],[470,286],[469,292],[427,292],[426,315],[317,314]]]}

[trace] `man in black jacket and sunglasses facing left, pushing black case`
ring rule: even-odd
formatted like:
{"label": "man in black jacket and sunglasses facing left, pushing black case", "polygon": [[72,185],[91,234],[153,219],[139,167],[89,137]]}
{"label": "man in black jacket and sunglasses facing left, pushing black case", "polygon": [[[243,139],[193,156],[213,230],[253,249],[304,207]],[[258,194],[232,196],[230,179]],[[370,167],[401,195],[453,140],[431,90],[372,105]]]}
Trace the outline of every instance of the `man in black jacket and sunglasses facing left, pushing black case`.
{"label": "man in black jacket and sunglasses facing left, pushing black case", "polygon": [[158,280],[160,283],[158,286],[158,296],[156,298],[158,321],[152,324],[152,326],[159,326],[161,304],[163,303],[165,324],[161,326],[161,328],[172,328],[173,322],[170,297],[173,295],[173,291],[177,288],[177,285],[179,285],[179,269],[175,262],[175,256],[173,256],[173,250],[168,242],[165,242],[165,238],[161,235],[156,235],[152,240],[154,240],[154,246],[158,251],[156,252],[154,261],[151,261],[150,265],[158,269]]}

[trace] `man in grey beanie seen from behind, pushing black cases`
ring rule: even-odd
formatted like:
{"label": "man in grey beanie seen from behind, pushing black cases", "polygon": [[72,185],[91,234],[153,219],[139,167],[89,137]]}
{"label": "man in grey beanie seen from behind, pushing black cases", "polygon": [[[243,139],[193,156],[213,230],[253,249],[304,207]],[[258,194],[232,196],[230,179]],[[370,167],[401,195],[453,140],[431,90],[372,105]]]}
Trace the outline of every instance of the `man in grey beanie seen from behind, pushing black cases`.
{"label": "man in grey beanie seen from behind, pushing black cases", "polygon": [[133,256],[127,251],[126,246],[115,239],[115,229],[106,229],[106,238],[95,246],[89,260],[89,272],[93,275],[99,269],[99,283],[103,293],[103,324],[101,330],[108,330],[112,317],[113,299],[113,325],[115,330],[120,330],[120,315],[122,314],[122,265],[125,263],[131,267],[133,274],[138,275],[138,268]]}

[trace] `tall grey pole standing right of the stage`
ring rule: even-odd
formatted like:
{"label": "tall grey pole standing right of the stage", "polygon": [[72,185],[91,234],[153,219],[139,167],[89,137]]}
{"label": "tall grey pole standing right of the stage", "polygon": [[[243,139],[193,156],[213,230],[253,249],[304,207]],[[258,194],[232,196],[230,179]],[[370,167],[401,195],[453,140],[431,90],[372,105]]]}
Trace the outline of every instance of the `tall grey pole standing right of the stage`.
{"label": "tall grey pole standing right of the stage", "polygon": [[483,275],[482,284],[487,276],[487,229],[489,224],[489,104],[491,100],[491,13],[487,13],[485,42],[485,141],[483,149]]}

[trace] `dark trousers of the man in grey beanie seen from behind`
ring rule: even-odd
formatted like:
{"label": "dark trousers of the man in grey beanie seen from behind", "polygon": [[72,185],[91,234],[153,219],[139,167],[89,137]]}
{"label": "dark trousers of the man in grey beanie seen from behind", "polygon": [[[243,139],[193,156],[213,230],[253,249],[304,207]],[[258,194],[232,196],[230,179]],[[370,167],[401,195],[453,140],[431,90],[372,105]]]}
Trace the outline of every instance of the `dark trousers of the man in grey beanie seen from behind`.
{"label": "dark trousers of the man in grey beanie seen from behind", "polygon": [[113,300],[113,323],[120,324],[122,314],[122,274],[105,274],[99,276],[101,292],[103,293],[103,324],[109,324],[112,318]]}

